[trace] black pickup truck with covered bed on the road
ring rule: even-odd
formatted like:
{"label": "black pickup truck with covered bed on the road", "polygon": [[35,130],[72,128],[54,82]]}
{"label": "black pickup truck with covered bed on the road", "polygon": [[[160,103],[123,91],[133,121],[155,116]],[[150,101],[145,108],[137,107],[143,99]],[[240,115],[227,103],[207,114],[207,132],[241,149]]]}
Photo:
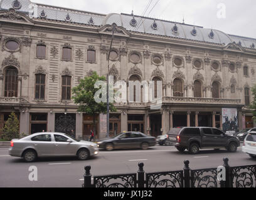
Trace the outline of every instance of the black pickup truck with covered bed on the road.
{"label": "black pickup truck with covered bed on the road", "polygon": [[188,149],[191,154],[197,154],[200,149],[222,148],[236,152],[240,146],[238,138],[209,127],[173,128],[168,133],[166,143],[173,144],[180,152]]}

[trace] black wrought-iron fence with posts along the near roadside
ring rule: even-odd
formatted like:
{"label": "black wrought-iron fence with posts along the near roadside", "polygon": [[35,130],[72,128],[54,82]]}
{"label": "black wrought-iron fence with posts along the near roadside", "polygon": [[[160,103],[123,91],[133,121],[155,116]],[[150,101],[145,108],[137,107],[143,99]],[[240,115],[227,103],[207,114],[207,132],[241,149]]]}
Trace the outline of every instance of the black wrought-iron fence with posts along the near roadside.
{"label": "black wrought-iron fence with posts along the near roadside", "polygon": [[144,164],[139,163],[135,174],[94,176],[90,166],[85,167],[83,187],[256,187],[256,165],[230,167],[228,158],[223,159],[220,169],[189,168],[184,161],[181,171],[145,173]]}

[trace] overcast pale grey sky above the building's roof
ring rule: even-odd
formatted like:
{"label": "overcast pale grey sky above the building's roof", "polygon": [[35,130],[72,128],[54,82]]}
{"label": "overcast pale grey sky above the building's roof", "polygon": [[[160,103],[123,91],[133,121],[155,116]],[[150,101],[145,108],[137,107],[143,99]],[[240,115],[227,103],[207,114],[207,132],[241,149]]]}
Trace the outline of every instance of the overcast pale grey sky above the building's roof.
{"label": "overcast pale grey sky above the building's roof", "polygon": [[[127,13],[184,22],[227,34],[256,38],[255,0],[31,0],[41,4],[101,14]],[[150,12],[151,11],[151,12]],[[150,12],[150,13],[149,13]]]}

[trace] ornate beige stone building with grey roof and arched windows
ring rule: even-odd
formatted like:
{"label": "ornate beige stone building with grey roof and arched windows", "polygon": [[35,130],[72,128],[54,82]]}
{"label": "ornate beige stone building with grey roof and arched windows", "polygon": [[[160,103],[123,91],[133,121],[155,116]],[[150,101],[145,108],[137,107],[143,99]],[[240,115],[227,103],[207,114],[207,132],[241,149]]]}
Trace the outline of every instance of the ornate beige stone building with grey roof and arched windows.
{"label": "ornate beige stone building with grey roof and arched windows", "polygon": [[[31,8],[33,8],[31,10]],[[86,137],[92,116],[77,112],[73,86],[96,71],[115,80],[163,81],[163,105],[116,104],[110,132],[157,136],[177,126],[222,128],[221,109],[253,126],[248,104],[256,84],[256,39],[133,14],[97,14],[29,0],[0,2],[0,126],[17,113],[20,132],[60,131]],[[97,137],[105,136],[105,116]]]}

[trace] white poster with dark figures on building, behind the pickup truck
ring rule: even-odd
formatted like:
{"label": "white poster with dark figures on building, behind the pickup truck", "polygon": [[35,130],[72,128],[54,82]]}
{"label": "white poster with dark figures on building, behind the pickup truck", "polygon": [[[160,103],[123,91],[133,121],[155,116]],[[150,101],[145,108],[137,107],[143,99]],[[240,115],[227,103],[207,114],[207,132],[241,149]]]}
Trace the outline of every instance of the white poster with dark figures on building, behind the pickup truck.
{"label": "white poster with dark figures on building, behind the pickup truck", "polygon": [[227,134],[235,134],[238,132],[237,109],[223,108],[222,109],[223,131]]}

